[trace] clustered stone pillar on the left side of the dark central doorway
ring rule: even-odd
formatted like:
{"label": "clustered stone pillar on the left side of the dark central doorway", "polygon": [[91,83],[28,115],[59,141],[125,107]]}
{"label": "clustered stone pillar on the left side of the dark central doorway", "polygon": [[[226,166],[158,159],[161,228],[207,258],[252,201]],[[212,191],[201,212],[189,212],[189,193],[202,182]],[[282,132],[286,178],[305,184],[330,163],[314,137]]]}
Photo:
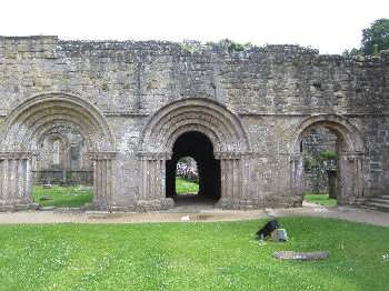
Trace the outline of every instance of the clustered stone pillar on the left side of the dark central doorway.
{"label": "clustered stone pillar on the left side of the dark central doorway", "polygon": [[139,160],[139,211],[169,209],[174,205],[171,198],[166,197],[166,161],[170,154],[166,152],[140,152]]}

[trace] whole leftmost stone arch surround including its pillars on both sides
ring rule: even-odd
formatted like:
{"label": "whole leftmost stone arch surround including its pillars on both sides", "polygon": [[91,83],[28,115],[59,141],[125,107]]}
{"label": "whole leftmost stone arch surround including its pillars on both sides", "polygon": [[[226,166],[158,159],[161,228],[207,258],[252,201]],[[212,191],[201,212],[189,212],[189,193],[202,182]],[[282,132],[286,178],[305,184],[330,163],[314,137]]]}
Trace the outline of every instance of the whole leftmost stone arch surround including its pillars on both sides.
{"label": "whole leftmost stone arch surround including its pillars on both sides", "polygon": [[33,96],[7,117],[0,143],[0,210],[31,208],[31,159],[39,141],[59,126],[77,129],[93,161],[93,207],[108,208],[114,191],[116,142],[97,107],[67,92]]}

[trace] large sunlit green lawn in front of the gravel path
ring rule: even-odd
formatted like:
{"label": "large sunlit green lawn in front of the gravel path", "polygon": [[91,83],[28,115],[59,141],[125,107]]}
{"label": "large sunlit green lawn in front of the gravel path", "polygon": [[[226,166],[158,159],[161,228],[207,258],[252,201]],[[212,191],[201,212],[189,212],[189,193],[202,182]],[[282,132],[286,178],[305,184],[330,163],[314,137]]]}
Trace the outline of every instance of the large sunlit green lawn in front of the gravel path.
{"label": "large sunlit green lawn in front of the gravel path", "polygon": [[[286,243],[258,243],[265,222],[0,227],[0,290],[388,290],[389,228],[282,218]],[[330,251],[278,261],[273,251]]]}

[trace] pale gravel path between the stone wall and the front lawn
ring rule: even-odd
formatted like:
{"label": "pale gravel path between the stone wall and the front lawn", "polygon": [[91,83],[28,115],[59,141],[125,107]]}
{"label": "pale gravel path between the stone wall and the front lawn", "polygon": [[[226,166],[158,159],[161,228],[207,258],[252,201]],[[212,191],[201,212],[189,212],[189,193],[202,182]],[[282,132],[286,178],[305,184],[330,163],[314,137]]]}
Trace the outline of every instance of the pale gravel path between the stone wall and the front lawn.
{"label": "pale gravel path between the stone wall and the front lawn", "polygon": [[0,224],[14,223],[141,223],[141,222],[190,222],[190,221],[235,221],[270,217],[321,217],[338,218],[389,227],[389,213],[350,207],[325,208],[305,203],[302,208],[265,209],[252,211],[230,211],[197,205],[193,209],[176,208],[170,211],[134,213],[103,211],[20,211],[0,213]]}

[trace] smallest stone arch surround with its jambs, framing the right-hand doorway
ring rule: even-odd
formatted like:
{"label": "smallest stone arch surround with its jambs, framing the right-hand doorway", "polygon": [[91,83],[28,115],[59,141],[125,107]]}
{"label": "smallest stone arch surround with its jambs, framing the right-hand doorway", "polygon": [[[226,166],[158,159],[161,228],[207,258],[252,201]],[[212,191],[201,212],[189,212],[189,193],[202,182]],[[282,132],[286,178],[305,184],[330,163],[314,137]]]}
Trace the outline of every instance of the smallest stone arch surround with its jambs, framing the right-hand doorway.
{"label": "smallest stone arch surround with its jambs, framing the right-hand doorway", "polygon": [[[293,131],[290,159],[290,188],[302,195],[303,161],[300,142],[313,128],[327,128],[338,137],[338,203],[348,204],[363,195],[363,139],[356,126],[341,116],[323,114],[303,120]],[[302,199],[302,198],[301,198]]]}

